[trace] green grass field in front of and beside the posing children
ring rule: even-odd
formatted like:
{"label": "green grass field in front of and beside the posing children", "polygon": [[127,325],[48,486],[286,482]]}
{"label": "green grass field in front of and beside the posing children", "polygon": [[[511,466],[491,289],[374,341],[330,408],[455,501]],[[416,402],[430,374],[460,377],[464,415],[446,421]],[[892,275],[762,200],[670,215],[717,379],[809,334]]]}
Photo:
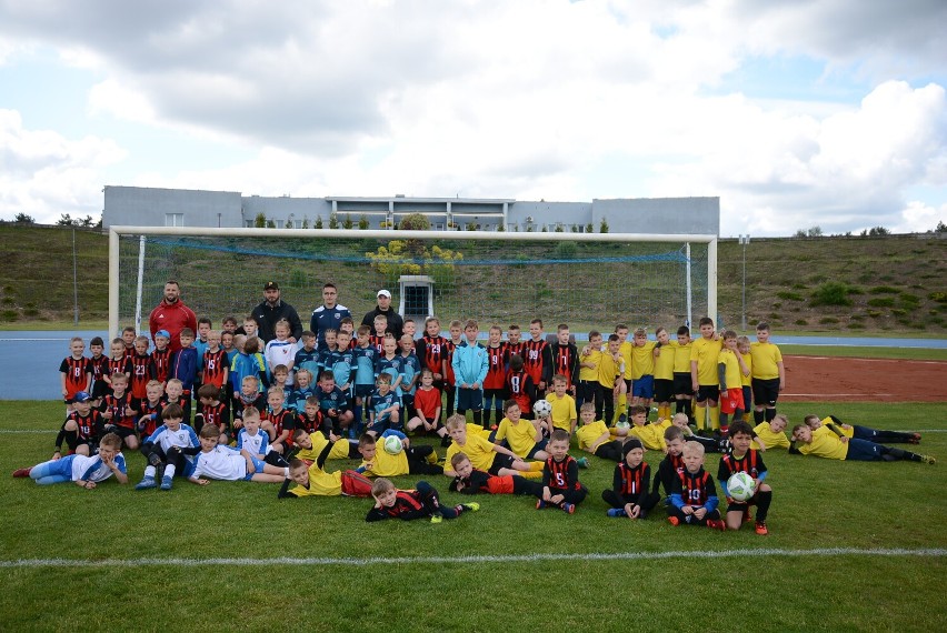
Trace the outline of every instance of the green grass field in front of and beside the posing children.
{"label": "green grass field in front of and beside the posing children", "polygon": [[[581,472],[591,494],[572,516],[484,495],[480,512],[440,525],[367,524],[367,500],[278,501],[276,484],[178,482],[159,493],[112,481],[83,491],[4,473],[0,629],[947,627],[947,404],[780,409],[794,422],[815,411],[919,430],[920,449],[941,463],[768,452],[766,537],[672,528],[659,512],[607,519],[599,495],[614,466],[595,458]],[[57,403],[3,402],[0,464],[48,459],[60,413]],[[128,459],[133,484],[143,459]],[[716,455],[707,468],[716,474]],[[446,478],[429,480],[447,489]]]}

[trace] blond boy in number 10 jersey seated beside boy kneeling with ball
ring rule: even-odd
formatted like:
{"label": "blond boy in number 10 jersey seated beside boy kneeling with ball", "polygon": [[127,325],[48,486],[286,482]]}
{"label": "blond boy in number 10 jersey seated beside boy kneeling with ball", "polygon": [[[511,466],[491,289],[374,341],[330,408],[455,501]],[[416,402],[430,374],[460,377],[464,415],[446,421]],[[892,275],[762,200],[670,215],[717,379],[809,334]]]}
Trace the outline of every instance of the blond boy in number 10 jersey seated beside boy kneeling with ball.
{"label": "blond boy in number 10 jersey seated beside boy kneeling with ball", "polygon": [[714,478],[704,470],[704,446],[687,442],[682,455],[685,468],[671,484],[668,521],[671,525],[706,525],[725,531],[727,524],[720,520],[720,511],[717,510],[720,500]]}

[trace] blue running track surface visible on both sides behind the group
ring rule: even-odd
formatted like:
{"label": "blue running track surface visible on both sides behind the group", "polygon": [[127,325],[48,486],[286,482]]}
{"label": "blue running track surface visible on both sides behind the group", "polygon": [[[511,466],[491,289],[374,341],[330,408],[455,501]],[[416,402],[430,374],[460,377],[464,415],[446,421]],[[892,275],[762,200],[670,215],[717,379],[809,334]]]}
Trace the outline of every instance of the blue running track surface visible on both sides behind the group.
{"label": "blue running track surface visible on both sides behind the group", "polygon": [[[69,339],[73,331],[52,332],[0,332],[0,400],[57,400],[60,396],[59,363],[69,354]],[[86,339],[102,336],[104,332],[79,332]],[[577,333],[578,340],[587,340]],[[784,345],[853,345],[877,348],[921,348],[947,351],[947,339],[881,339],[848,336],[772,336]],[[945,353],[947,360],[947,353]]]}

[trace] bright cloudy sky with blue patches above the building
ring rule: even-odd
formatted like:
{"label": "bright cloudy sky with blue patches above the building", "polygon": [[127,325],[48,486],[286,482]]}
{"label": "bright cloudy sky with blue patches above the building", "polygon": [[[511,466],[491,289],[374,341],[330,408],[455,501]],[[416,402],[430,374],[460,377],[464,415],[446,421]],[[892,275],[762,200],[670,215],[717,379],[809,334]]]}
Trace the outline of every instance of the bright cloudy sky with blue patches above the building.
{"label": "bright cloudy sky with blue patches above the building", "polygon": [[0,218],[106,184],[947,222],[943,0],[0,0]]}

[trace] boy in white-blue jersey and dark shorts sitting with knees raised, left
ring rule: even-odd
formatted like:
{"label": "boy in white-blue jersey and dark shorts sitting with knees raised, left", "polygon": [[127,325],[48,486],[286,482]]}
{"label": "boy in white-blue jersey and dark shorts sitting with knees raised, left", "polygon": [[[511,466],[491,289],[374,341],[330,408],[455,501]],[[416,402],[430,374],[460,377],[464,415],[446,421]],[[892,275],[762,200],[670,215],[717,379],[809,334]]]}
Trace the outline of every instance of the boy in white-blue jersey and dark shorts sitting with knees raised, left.
{"label": "boy in white-blue jersey and dark shorts sitting with knees raised, left", "polygon": [[[175,475],[187,476],[188,453],[187,449],[198,449],[197,433],[188,424],[182,424],[185,411],[180,404],[169,404],[161,411],[162,424],[144,440],[141,445],[141,454],[148,465],[144,466],[144,476],[134,486],[134,490],[147,490],[157,488],[161,481],[161,490],[171,490]],[[158,472],[160,469],[160,473]]]}

